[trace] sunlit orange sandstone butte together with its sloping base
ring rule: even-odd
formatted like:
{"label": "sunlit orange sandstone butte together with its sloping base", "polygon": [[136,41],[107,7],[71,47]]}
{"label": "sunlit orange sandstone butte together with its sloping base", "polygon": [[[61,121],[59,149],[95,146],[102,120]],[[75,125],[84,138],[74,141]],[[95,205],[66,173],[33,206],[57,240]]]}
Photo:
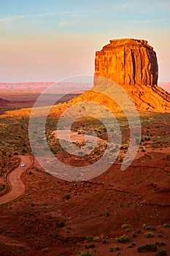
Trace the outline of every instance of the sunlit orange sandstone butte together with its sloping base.
{"label": "sunlit orange sandstone butte together with its sloping base", "polygon": [[[152,46],[143,39],[112,39],[102,50],[96,52],[94,86],[65,104],[55,105],[49,116],[60,116],[63,110],[77,102],[82,102],[82,110],[90,108],[83,102],[98,102],[112,112],[122,110],[120,105],[108,95],[119,94],[117,87],[96,83],[96,78],[103,77],[120,85],[132,99],[136,108],[141,112],[170,113],[170,94],[158,87],[158,61]],[[99,86],[99,87],[98,87]],[[102,94],[96,93],[96,89]],[[119,95],[121,97],[121,95]],[[124,104],[125,108],[126,105]],[[127,105],[128,110],[128,105]],[[29,115],[31,109],[8,111],[12,116]],[[94,110],[96,111],[96,110]],[[71,111],[72,112],[72,111]],[[79,110],[81,112],[81,110]],[[90,109],[93,112],[93,109]],[[100,110],[97,110],[100,114]],[[75,113],[77,114],[77,110]]]}

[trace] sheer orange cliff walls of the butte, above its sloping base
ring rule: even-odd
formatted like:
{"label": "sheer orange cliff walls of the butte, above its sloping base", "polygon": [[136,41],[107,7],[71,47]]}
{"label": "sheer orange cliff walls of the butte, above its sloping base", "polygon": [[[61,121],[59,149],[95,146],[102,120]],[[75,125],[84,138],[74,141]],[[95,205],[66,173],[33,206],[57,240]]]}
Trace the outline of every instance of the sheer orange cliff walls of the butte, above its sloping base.
{"label": "sheer orange cliff walls of the butte, above its sloping base", "polygon": [[96,52],[95,75],[120,85],[155,86],[158,81],[156,53],[146,40],[112,39]]}

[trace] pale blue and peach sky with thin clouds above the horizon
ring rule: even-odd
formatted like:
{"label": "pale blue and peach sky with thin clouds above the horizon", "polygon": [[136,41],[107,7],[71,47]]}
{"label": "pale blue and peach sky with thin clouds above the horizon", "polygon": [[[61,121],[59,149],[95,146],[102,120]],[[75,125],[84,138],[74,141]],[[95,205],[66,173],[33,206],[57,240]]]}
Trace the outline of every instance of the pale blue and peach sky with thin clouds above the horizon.
{"label": "pale blue and peach sky with thin clouds above the horizon", "polygon": [[147,39],[170,81],[170,0],[0,0],[0,82],[93,75],[117,38]]}

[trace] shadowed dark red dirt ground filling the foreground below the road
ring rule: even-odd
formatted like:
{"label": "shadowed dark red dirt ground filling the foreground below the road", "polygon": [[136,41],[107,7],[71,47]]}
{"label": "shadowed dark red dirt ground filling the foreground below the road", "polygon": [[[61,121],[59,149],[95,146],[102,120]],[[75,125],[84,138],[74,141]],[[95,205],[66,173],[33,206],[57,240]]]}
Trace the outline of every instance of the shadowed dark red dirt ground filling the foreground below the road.
{"label": "shadowed dark red dirt ground filling the foreground below the road", "polygon": [[[146,244],[170,255],[169,150],[148,148],[127,170],[115,162],[83,182],[59,180],[34,162],[23,173],[25,195],[0,206],[1,255],[125,256]],[[123,235],[127,243],[116,240]]]}

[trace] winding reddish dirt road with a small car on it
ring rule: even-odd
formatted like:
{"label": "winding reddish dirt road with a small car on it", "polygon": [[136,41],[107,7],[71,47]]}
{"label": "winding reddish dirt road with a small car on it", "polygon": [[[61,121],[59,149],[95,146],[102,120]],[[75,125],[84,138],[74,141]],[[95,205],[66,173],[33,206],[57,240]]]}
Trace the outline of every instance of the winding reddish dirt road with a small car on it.
{"label": "winding reddish dirt road with a small car on it", "polygon": [[31,167],[31,158],[27,156],[20,156],[20,164],[21,163],[23,163],[25,166],[21,167],[19,165],[17,168],[15,168],[15,170],[12,170],[7,175],[7,183],[9,184],[10,190],[7,192],[7,194],[0,197],[0,205],[9,203],[26,192],[26,186],[23,184],[23,181],[21,181],[20,176],[24,171],[26,171],[26,169],[28,169],[28,167]]}

